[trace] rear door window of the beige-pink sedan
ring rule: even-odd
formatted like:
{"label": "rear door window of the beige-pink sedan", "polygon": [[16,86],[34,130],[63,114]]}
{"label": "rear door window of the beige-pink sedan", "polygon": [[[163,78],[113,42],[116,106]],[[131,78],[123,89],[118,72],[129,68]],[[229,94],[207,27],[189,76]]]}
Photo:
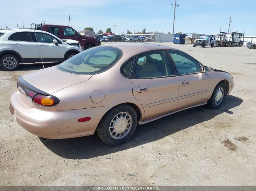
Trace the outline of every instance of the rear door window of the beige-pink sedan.
{"label": "rear door window of the beige-pink sedan", "polygon": [[171,71],[163,51],[141,54],[135,64],[136,78],[154,78],[169,75],[171,75]]}

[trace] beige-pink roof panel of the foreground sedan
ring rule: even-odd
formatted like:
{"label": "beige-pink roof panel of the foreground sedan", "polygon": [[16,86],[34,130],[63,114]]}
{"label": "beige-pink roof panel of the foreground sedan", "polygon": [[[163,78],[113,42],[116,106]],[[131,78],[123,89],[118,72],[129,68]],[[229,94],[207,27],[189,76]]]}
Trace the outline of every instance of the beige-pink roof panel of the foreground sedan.
{"label": "beige-pink roof panel of the foreground sedan", "polygon": [[174,49],[170,46],[163,46],[158,44],[151,44],[151,43],[112,43],[112,44],[106,44],[101,46],[112,46],[121,49],[124,53],[134,50],[134,49],[140,49],[139,52],[146,52],[149,50],[158,50],[158,49]]}

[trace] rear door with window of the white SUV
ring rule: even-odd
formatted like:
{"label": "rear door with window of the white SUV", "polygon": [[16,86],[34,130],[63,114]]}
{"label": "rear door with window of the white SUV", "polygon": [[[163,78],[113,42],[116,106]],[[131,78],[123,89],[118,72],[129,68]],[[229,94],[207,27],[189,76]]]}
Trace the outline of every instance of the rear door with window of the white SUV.
{"label": "rear door with window of the white SUV", "polygon": [[33,42],[30,32],[14,33],[9,37],[9,42],[22,58],[40,58],[37,43]]}

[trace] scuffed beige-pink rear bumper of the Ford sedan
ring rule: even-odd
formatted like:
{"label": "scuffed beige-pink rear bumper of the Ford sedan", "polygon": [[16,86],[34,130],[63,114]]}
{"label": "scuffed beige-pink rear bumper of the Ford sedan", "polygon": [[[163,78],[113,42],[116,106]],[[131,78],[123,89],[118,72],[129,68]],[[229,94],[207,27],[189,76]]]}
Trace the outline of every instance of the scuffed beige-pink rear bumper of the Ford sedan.
{"label": "scuffed beige-pink rear bumper of the Ford sedan", "polygon": [[[56,110],[56,107],[29,107],[18,96],[10,98],[10,111],[17,123],[34,135],[43,138],[74,138],[93,135],[107,107],[95,107],[79,110]],[[90,121],[78,122],[83,117]]]}

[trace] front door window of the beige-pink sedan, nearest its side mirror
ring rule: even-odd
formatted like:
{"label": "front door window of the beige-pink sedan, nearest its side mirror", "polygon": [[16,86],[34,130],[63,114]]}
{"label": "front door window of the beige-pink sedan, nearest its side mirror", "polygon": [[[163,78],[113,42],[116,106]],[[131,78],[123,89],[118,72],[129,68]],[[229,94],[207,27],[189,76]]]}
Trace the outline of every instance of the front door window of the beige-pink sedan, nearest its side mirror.
{"label": "front door window of the beige-pink sedan, nearest its side mirror", "polygon": [[178,75],[202,72],[200,63],[188,54],[178,50],[168,50],[168,53],[176,66]]}

